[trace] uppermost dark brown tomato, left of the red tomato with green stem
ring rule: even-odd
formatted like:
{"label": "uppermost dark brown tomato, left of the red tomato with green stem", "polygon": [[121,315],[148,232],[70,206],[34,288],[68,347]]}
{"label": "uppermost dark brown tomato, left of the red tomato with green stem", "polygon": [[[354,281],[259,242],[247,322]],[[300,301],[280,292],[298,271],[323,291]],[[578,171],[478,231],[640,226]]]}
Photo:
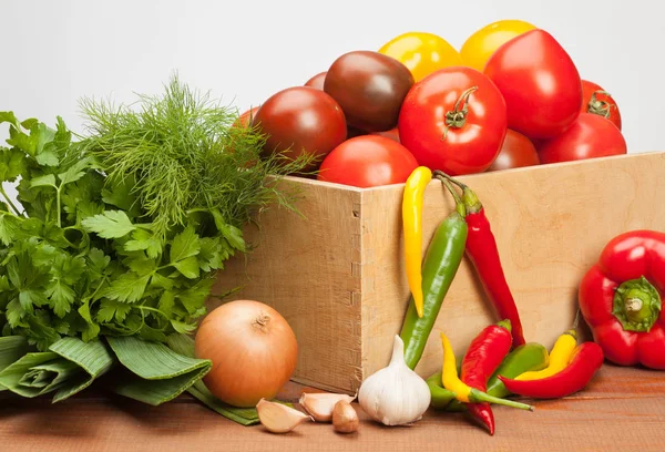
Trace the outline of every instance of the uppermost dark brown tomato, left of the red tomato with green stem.
{"label": "uppermost dark brown tomato, left of the red tomato with green stem", "polygon": [[341,106],[349,125],[383,132],[397,125],[413,75],[399,61],[372,51],[339,56],[326,75],[324,91]]}

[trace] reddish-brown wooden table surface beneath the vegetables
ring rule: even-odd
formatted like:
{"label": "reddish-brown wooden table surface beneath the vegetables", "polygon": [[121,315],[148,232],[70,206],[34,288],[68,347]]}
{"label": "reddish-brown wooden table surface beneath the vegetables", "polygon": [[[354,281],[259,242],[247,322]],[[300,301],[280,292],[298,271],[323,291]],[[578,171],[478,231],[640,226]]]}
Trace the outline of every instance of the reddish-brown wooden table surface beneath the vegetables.
{"label": "reddish-brown wooden table surface beneath the vegetables", "polygon": [[[289,383],[283,400],[297,401]],[[583,392],[535,401],[528,412],[494,407],[490,436],[463,414],[429,411],[410,427],[386,428],[360,414],[358,433],[305,423],[276,435],[262,425],[242,427],[181,397],[149,407],[89,390],[65,402],[0,396],[2,451],[663,451],[665,373],[605,364]]]}

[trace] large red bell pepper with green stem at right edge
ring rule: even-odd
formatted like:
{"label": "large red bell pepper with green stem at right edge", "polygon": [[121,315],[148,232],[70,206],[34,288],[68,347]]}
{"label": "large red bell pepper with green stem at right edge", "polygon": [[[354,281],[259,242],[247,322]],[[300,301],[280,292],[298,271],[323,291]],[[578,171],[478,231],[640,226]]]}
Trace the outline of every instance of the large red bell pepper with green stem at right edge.
{"label": "large red bell pepper with green stem at right edge", "polygon": [[605,358],[665,370],[665,234],[614,237],[580,285],[584,320]]}

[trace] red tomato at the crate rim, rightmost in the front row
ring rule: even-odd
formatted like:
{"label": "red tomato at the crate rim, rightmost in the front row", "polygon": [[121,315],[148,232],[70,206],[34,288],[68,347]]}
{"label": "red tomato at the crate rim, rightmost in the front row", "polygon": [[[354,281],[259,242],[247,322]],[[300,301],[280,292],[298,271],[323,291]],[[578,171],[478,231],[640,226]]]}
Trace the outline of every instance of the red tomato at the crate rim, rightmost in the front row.
{"label": "red tomato at the crate rim, rightmost in the front row", "polygon": [[577,121],[567,131],[544,143],[539,150],[542,163],[606,157],[626,153],[626,141],[616,125],[592,113],[581,113]]}

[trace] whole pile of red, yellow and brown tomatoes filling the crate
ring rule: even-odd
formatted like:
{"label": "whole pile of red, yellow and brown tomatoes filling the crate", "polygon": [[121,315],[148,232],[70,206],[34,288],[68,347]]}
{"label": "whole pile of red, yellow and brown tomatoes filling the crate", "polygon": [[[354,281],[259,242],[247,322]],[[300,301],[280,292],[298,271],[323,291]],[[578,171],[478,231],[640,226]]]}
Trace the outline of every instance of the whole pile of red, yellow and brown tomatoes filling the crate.
{"label": "whole pile of red, yellow and brown tomatoes filling the crate", "polygon": [[483,27],[459,52],[408,32],[345,53],[238,123],[265,133],[266,154],[310,155],[318,179],[358,187],[418,166],[456,176],[627,152],[614,99],[520,20]]}

